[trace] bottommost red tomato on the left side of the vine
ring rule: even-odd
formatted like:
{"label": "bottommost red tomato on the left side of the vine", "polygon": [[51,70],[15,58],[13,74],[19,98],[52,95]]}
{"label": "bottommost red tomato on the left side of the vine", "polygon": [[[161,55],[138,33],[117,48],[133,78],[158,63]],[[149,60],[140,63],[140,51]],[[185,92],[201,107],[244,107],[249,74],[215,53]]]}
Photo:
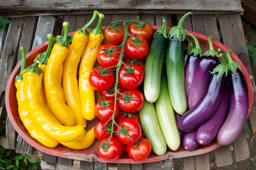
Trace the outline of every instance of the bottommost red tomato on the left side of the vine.
{"label": "bottommost red tomato on the left side of the vine", "polygon": [[[110,143],[108,145],[108,141]],[[98,154],[102,159],[115,160],[118,159],[123,152],[123,144],[116,137],[111,139],[102,139],[99,142]]]}

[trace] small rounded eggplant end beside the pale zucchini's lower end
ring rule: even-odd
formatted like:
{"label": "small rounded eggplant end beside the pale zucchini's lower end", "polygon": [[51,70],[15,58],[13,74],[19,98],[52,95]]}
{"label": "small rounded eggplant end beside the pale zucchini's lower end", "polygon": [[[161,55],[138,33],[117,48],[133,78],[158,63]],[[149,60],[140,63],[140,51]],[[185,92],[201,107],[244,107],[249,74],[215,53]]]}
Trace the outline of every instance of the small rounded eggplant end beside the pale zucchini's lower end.
{"label": "small rounded eggplant end beside the pale zucchini's lower end", "polygon": [[196,140],[196,131],[197,129],[185,133],[183,140],[182,140],[182,145],[186,150],[195,150],[200,146],[198,141]]}

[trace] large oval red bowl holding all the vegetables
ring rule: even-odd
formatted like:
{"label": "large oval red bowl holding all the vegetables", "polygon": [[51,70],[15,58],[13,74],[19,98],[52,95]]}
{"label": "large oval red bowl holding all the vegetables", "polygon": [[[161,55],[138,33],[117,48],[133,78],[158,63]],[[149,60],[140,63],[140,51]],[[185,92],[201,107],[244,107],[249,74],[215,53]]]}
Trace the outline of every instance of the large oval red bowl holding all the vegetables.
{"label": "large oval red bowl holding all the vegetables", "polygon": [[[153,26],[155,30],[159,28],[159,26]],[[74,32],[73,32],[74,33]],[[201,48],[203,51],[207,51],[209,49],[208,47],[208,36],[202,35],[199,33],[195,33],[192,31],[186,31],[186,33],[192,33],[195,35],[196,38],[198,38]],[[70,33],[72,34],[72,33]],[[213,43],[213,48],[217,50],[218,48],[221,48],[223,51],[229,51],[229,49],[221,44],[220,42],[216,40],[212,40]],[[30,65],[34,62],[34,58],[36,58],[36,55],[38,53],[43,53],[47,49],[47,44],[48,42],[44,42],[43,44],[40,44],[38,47],[30,51],[26,57],[27,57],[27,65]],[[248,88],[248,93],[249,93],[249,110],[248,110],[248,116],[252,108],[252,102],[253,102],[253,90],[252,90],[252,81],[250,79],[249,73],[247,69],[245,68],[243,62],[232,52],[231,57],[233,58],[234,61],[238,62],[240,64],[243,72],[244,72],[244,78],[247,83],[247,88]],[[11,120],[11,123],[15,130],[19,133],[19,135],[25,139],[31,146],[34,148],[45,152],[49,155],[55,155],[58,157],[64,157],[64,158],[69,158],[69,159],[76,159],[76,160],[82,160],[82,161],[101,161],[101,162],[107,162],[107,163],[146,163],[146,162],[155,162],[155,161],[162,161],[165,159],[168,159],[168,156],[171,155],[173,159],[175,158],[181,158],[181,157],[189,157],[189,156],[195,156],[195,155],[201,155],[207,152],[210,152],[212,150],[215,150],[216,148],[220,147],[221,145],[218,144],[216,140],[212,141],[210,144],[205,145],[205,146],[200,146],[196,150],[193,151],[187,151],[183,148],[181,145],[180,148],[176,151],[167,149],[167,152],[163,156],[157,156],[155,153],[151,153],[150,156],[145,159],[144,161],[141,162],[136,162],[130,159],[128,155],[124,152],[123,155],[119,159],[112,160],[112,161],[106,161],[104,159],[101,159],[99,157],[98,152],[97,152],[97,147],[99,144],[99,141],[96,139],[94,144],[87,149],[84,150],[74,150],[67,148],[61,144],[59,144],[56,148],[47,148],[40,144],[36,139],[32,138],[29,135],[29,132],[26,130],[26,128],[23,126],[22,121],[20,120],[20,117],[18,115],[18,104],[17,104],[17,99],[16,99],[16,87],[14,85],[15,77],[20,73],[20,64],[21,61],[17,64],[17,66],[13,69],[8,82],[7,82],[7,87],[6,87],[6,92],[5,92],[5,105],[7,109],[7,113],[9,116],[9,119]],[[94,119],[93,121],[90,121],[88,123],[88,128],[94,126],[95,122],[97,119]]]}

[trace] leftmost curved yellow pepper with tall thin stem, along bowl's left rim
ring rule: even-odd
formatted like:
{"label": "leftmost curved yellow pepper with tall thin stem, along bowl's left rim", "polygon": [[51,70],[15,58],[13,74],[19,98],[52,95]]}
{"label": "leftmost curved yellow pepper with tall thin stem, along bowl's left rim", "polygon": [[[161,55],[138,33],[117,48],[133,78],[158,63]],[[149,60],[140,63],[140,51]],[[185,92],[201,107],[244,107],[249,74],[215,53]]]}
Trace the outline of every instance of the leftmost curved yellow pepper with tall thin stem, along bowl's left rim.
{"label": "leftmost curved yellow pepper with tall thin stem, along bowl's left rim", "polygon": [[16,76],[15,86],[17,88],[16,92],[16,98],[18,101],[18,113],[20,116],[20,119],[34,139],[36,139],[40,144],[49,147],[54,148],[58,146],[59,142],[56,139],[53,139],[52,137],[49,137],[41,130],[41,128],[36,124],[36,122],[32,119],[28,107],[27,107],[27,95],[25,88],[24,80],[22,79],[22,71],[25,69],[26,65],[26,55],[25,55],[25,48],[20,47],[21,52],[21,68],[20,68],[20,74]]}

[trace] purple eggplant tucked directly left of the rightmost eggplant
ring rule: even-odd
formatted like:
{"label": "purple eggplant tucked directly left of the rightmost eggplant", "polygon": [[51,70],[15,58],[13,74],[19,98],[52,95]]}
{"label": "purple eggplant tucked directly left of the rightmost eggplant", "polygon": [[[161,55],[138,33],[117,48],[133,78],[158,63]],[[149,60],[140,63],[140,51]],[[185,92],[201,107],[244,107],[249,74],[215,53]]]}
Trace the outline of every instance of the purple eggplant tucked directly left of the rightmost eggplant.
{"label": "purple eggplant tucked directly left of the rightmost eggplant", "polygon": [[229,88],[227,87],[227,83],[225,83],[218,108],[212,117],[202,124],[196,132],[196,139],[199,144],[207,145],[216,138],[220,127],[227,117],[229,100]]}

